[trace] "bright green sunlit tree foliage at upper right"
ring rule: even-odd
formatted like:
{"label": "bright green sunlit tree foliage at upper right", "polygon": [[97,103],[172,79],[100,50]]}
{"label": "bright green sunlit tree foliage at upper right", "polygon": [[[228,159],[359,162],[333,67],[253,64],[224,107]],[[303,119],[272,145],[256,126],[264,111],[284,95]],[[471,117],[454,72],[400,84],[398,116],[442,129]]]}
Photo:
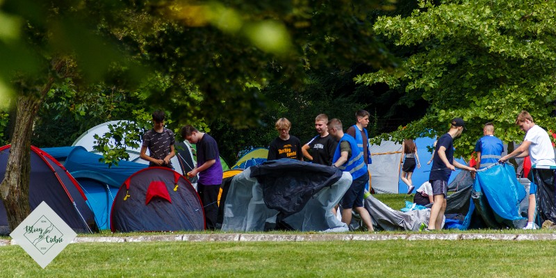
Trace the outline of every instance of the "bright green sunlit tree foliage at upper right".
{"label": "bright green sunlit tree foliage at upper right", "polygon": [[416,53],[393,71],[355,80],[386,83],[430,103],[425,117],[393,133],[395,140],[445,133],[453,117],[462,117],[468,131],[455,146],[469,154],[485,122],[505,142],[523,140],[514,124],[521,110],[554,131],[555,12],[556,3],[543,0],[420,1],[411,16],[379,17],[374,26]]}

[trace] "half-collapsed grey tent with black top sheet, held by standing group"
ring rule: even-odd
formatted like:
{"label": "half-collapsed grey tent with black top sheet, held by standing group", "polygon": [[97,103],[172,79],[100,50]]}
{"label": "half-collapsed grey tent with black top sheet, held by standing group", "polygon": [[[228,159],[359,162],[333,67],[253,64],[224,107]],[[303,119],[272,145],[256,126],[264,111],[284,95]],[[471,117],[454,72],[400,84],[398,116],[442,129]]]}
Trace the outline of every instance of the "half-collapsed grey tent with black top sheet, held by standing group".
{"label": "half-collapsed grey tent with black top sheet, held by standing group", "polygon": [[[267,162],[269,163],[269,162]],[[290,165],[288,165],[290,164]],[[283,167],[281,167],[281,166]],[[222,222],[223,231],[264,231],[265,223],[275,223],[277,225],[284,224],[297,231],[347,231],[347,225],[336,219],[332,214],[332,208],[338,204],[345,191],[352,183],[351,174],[347,172],[327,172],[312,163],[302,163],[293,159],[280,159],[270,165],[256,165],[245,169],[231,181],[226,202],[224,203],[224,220]],[[263,169],[257,169],[263,167]],[[341,177],[334,183],[327,186],[313,186],[310,198],[300,199],[306,200],[303,204],[297,196],[293,196],[291,192],[281,193],[277,199],[284,201],[285,196],[296,197],[292,204],[284,204],[283,207],[276,206],[281,201],[276,199],[266,199],[265,194],[270,193],[267,188],[265,193],[264,184],[270,184],[270,178],[263,178],[261,175],[268,173],[277,180],[284,180],[284,184],[274,183],[279,186],[280,190],[286,188],[292,190],[303,189],[304,186],[312,186],[315,181],[329,181],[332,176],[341,174]],[[302,177],[304,176],[304,177]],[[322,177],[317,177],[322,176]],[[261,179],[263,183],[257,179]],[[300,180],[297,181],[295,177]],[[267,183],[270,182],[270,183]],[[306,192],[299,195],[306,196]],[[274,208],[267,206],[272,204]],[[296,212],[297,211],[297,212]],[[286,212],[287,217],[277,223],[276,219],[279,213]]]}

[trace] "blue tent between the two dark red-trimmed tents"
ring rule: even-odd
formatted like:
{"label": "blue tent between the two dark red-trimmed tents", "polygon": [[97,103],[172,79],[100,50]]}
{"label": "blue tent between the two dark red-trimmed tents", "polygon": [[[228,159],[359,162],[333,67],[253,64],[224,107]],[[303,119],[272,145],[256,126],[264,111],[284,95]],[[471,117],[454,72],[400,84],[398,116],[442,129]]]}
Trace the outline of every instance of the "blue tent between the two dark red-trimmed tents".
{"label": "blue tent between the two dark red-trimmed tents", "polygon": [[112,204],[120,186],[129,176],[148,166],[120,161],[118,165],[108,167],[99,161],[101,157],[83,147],[74,147],[67,155],[65,167],[83,187],[98,227],[109,229]]}

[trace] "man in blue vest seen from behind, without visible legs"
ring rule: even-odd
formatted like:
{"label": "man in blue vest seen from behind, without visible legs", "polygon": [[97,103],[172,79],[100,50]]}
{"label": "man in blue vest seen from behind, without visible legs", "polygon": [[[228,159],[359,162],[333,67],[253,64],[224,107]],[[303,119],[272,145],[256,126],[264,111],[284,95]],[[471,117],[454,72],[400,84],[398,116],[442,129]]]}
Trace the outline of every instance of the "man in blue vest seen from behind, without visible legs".
{"label": "man in blue vest seen from behind, without visible legs", "polygon": [[504,143],[494,136],[494,124],[487,122],[482,129],[484,136],[477,140],[475,152],[477,153],[477,165],[475,168],[482,169],[498,163],[504,152]]}

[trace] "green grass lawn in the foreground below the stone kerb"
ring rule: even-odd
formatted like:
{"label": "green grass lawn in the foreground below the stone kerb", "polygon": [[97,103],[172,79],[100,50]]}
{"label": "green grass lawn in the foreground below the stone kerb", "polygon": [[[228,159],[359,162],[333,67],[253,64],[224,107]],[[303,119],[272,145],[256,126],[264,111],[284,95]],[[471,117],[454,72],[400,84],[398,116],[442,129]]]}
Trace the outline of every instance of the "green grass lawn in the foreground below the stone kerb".
{"label": "green grass lawn in the foreground below the stone kerb", "polygon": [[71,244],[44,270],[0,247],[1,277],[553,277],[553,241]]}

